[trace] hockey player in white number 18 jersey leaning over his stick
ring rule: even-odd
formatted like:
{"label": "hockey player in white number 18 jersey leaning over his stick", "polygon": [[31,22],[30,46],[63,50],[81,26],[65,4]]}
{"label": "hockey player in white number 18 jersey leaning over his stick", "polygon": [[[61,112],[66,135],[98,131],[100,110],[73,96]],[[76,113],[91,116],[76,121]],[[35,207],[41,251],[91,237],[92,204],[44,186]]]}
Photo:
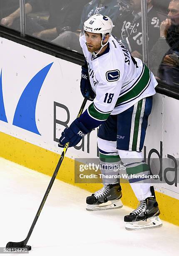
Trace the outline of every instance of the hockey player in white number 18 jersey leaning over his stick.
{"label": "hockey player in white number 18 jersey leaning over his stick", "polygon": [[[94,102],[62,132],[59,146],[67,142],[70,146],[77,145],[100,125],[97,142],[101,162],[116,164],[122,159],[127,174],[149,173],[141,151],[157,81],[142,61],[133,58],[111,34],[112,26],[112,20],[101,14],[84,23],[85,34],[80,36],[80,45],[86,64],[82,66],[80,87],[82,95],[90,92],[89,99]],[[105,173],[105,169],[101,172]],[[103,183],[102,189],[87,197],[87,210],[122,207],[119,180],[103,180]],[[126,228],[139,229],[140,221],[142,228],[162,225],[154,188],[149,183],[139,183],[137,178],[129,179],[129,183],[140,205],[124,217]]]}

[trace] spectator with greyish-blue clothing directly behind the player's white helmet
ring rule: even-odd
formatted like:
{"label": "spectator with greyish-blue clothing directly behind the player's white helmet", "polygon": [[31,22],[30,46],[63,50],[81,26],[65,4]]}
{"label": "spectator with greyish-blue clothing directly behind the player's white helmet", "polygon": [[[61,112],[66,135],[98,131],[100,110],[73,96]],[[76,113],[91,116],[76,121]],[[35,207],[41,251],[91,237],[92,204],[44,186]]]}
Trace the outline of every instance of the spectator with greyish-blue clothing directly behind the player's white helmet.
{"label": "spectator with greyish-blue clothing directly behind the player's white helmet", "polygon": [[113,25],[115,26],[117,24],[115,23],[117,12],[122,13],[124,9],[127,10],[128,8],[129,5],[127,5],[125,0],[92,0],[83,8],[81,21],[79,23],[80,25],[75,33],[72,31],[66,31],[61,33],[52,42],[66,49],[71,49],[82,53],[82,48],[79,43],[79,36],[81,30],[83,29],[85,20],[94,14],[101,13],[102,15],[109,16],[113,21]]}

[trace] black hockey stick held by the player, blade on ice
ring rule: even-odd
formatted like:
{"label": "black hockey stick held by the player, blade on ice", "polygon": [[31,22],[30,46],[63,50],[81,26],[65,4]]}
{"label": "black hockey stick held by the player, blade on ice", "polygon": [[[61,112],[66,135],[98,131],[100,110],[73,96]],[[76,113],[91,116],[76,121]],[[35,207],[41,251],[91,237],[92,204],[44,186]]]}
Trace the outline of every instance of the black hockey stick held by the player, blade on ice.
{"label": "black hockey stick held by the player, blade on ice", "polygon": [[[87,102],[87,95],[86,95],[85,99],[83,100],[83,103],[82,103],[80,111],[79,111],[79,113],[77,115],[77,118],[79,118],[80,115],[82,114],[82,112],[83,112],[83,110],[85,108],[86,102]],[[21,242],[8,242],[7,245],[6,245],[6,248],[22,248],[22,249],[25,249],[25,251],[30,251],[31,250],[31,246],[27,246],[27,242],[28,242],[28,240],[29,240],[29,238],[30,238],[30,236],[32,234],[32,231],[33,231],[33,229],[35,227],[35,224],[36,224],[36,222],[37,222],[37,220],[39,218],[40,212],[42,211],[42,208],[43,208],[43,206],[45,204],[47,196],[49,195],[49,192],[50,192],[50,189],[52,188],[53,182],[55,181],[55,178],[57,176],[58,170],[59,170],[59,168],[60,168],[60,166],[62,164],[62,161],[64,159],[64,156],[65,156],[65,154],[67,152],[67,148],[69,146],[69,143],[70,142],[67,142],[65,144],[63,152],[62,152],[62,154],[60,156],[60,159],[58,161],[58,164],[57,164],[57,166],[55,168],[55,172],[54,172],[54,174],[53,174],[53,176],[52,176],[52,178],[50,180],[50,183],[49,183],[49,185],[47,187],[47,190],[46,190],[45,195],[44,195],[44,197],[42,199],[42,202],[41,202],[40,207],[39,207],[39,209],[37,211],[37,214],[35,215],[34,221],[33,221],[32,225],[30,227],[30,230],[29,230],[29,233],[27,234],[27,237],[25,238],[25,240],[23,240]]]}

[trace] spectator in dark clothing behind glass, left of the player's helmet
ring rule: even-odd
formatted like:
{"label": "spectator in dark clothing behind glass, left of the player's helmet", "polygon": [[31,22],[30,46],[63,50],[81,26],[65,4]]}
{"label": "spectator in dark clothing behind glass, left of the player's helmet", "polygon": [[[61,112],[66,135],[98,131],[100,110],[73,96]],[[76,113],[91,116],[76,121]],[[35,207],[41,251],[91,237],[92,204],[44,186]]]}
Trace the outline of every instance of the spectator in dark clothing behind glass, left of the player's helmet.
{"label": "spectator in dark clothing behind glass, left of the player's helmet", "polygon": [[50,16],[43,31],[33,36],[51,41],[64,31],[75,31],[80,23],[83,6],[88,0],[47,0],[46,10]]}

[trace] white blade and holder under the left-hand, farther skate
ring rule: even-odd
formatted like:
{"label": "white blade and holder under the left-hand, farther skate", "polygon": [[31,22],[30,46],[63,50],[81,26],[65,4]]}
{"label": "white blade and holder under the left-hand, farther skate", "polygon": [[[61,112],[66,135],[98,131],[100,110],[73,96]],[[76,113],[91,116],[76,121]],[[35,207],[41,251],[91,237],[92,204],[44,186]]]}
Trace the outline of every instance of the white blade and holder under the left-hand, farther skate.
{"label": "white blade and holder under the left-hand, farther skate", "polygon": [[100,211],[100,210],[110,210],[110,209],[119,209],[122,208],[121,200],[111,200],[101,205],[87,205],[87,211]]}

